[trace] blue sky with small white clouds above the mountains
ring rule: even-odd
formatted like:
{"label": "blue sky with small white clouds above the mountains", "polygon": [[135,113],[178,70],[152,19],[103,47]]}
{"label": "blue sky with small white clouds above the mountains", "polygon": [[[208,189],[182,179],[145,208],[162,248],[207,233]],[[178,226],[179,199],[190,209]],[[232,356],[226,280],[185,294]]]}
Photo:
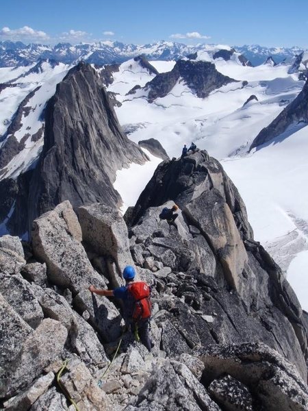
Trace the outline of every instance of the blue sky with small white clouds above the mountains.
{"label": "blue sky with small white clouds above the mountains", "polygon": [[308,49],[308,0],[1,0],[0,40],[172,40]]}

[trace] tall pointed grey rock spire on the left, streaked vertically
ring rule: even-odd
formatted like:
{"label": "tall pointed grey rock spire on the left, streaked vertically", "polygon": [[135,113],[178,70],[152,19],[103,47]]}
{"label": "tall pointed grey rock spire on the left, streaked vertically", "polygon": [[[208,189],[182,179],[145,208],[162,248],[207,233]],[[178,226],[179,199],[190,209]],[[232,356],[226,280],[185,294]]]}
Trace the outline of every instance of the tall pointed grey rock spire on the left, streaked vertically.
{"label": "tall pointed grey rock spire on the left, streaked vertically", "polygon": [[36,168],[0,182],[5,205],[0,217],[7,218],[10,233],[24,235],[37,216],[64,200],[74,208],[97,201],[116,206],[116,171],[147,160],[120,129],[103,82],[90,65],[80,63],[68,72],[44,116],[44,147]]}

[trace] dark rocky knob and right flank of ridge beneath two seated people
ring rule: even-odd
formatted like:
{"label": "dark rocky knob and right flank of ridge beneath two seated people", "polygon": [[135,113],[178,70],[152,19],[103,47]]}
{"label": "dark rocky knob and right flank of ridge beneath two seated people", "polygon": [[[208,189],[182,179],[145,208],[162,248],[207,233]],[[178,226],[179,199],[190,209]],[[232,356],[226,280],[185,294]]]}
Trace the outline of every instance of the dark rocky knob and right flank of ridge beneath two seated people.
{"label": "dark rocky knob and right flank of ridge beneath two seated people", "polygon": [[[174,202],[182,210],[179,231],[172,227],[169,234],[159,212]],[[173,337],[164,334],[170,352],[167,337],[189,347],[259,340],[307,378],[307,330],[296,296],[253,240],[238,190],[205,151],[159,164],[136,203],[129,235],[135,263],[144,269],[153,256],[164,264],[153,271],[157,289],[177,297],[172,303],[157,299],[165,310],[159,317],[163,334],[164,323],[175,327]]]}

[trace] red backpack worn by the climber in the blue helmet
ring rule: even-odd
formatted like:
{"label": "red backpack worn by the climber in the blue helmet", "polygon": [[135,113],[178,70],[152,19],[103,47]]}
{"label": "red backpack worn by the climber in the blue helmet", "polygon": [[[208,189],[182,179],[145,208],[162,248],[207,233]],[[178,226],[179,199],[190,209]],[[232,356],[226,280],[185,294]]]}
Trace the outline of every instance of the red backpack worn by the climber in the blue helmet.
{"label": "red backpack worn by the climber in the blue helmet", "polygon": [[150,292],[151,289],[145,282],[133,282],[129,284],[127,290],[131,294],[134,300],[133,304],[133,321],[140,321],[142,319],[148,319],[151,316],[151,301]]}

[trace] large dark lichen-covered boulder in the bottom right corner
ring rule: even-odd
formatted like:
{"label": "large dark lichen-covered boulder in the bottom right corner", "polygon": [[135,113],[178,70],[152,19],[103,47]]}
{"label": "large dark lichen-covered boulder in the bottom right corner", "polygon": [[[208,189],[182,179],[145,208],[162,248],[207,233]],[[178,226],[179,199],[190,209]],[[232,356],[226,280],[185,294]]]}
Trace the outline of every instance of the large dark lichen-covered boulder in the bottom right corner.
{"label": "large dark lichen-covered boulder in the bottom right corner", "polygon": [[[290,362],[261,343],[207,347],[195,355],[205,364],[207,370],[203,375],[205,386],[207,381],[214,380],[209,385],[209,390],[216,393],[214,397],[219,397],[218,401],[224,403],[227,410],[254,410],[258,404],[262,404],[268,411],[308,408],[307,385],[303,384],[298,371]],[[231,388],[237,381],[237,391],[240,391],[241,387],[242,392],[246,393],[242,395],[242,399],[246,397],[248,408],[235,408],[236,398],[235,401],[232,399],[234,392],[229,391],[228,400],[226,390],[222,395],[219,388],[222,379],[216,378],[226,374],[229,377],[224,378],[224,384]],[[273,398],[276,401],[273,402]],[[231,400],[233,407],[226,404]]]}

